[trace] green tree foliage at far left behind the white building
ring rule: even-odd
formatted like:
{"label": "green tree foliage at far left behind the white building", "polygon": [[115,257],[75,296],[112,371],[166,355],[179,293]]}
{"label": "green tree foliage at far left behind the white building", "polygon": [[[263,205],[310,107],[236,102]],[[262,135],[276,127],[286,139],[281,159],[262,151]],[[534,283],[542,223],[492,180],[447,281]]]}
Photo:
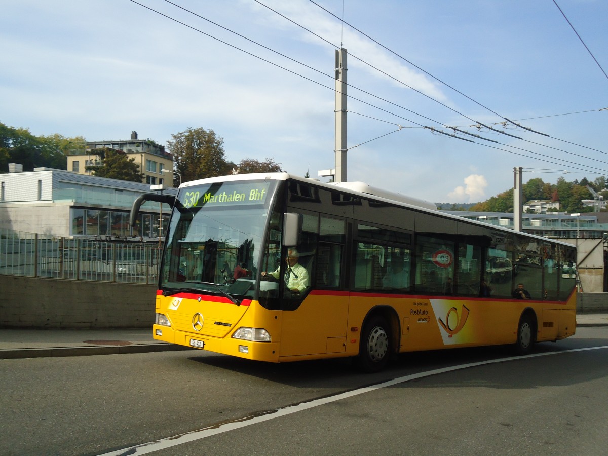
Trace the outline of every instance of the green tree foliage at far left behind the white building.
{"label": "green tree foliage at far left behind the white building", "polygon": [[8,171],[9,163],[23,165],[24,171],[46,167],[65,170],[66,154],[84,148],[82,137],[66,138],[60,134],[34,136],[27,128],[13,128],[0,123],[0,171]]}

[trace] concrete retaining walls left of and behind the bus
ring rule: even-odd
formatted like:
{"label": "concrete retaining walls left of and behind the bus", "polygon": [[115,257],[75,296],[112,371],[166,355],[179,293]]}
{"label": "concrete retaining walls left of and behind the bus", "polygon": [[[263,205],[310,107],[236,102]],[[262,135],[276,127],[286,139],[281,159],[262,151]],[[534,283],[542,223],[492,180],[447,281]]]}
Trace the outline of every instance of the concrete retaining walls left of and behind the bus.
{"label": "concrete retaining walls left of and behind the bus", "polygon": [[[156,285],[0,274],[0,327],[150,328]],[[578,293],[577,312],[608,313],[608,293]]]}

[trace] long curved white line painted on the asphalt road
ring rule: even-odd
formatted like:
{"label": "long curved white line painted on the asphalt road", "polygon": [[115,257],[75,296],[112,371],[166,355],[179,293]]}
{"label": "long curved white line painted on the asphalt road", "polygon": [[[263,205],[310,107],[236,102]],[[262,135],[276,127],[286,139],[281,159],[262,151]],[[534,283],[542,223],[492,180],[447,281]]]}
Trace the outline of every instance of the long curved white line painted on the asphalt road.
{"label": "long curved white line painted on the asphalt road", "polygon": [[351,398],[353,396],[358,396],[364,393],[368,393],[371,391],[379,390],[382,388],[386,388],[393,385],[398,385],[399,383],[409,382],[415,379],[430,377],[432,375],[443,374],[446,372],[452,372],[461,369],[468,369],[470,367],[477,367],[486,364],[497,364],[499,362],[505,361],[516,361],[519,359],[527,359],[527,358],[537,358],[539,356],[547,356],[550,354],[559,354],[559,353],[571,353],[574,351],[588,351],[588,350],[602,350],[604,348],[608,348],[608,345],[604,345],[603,347],[587,347],[587,348],[573,348],[572,350],[564,350],[564,351],[548,351],[546,353],[533,353],[528,354],[526,356],[510,356],[509,358],[501,358],[501,359],[490,359],[488,361],[479,361],[479,362],[471,362],[468,364],[460,364],[451,367],[443,367],[440,369],[434,369],[424,372],[419,372],[412,375],[406,375],[403,377],[395,378],[393,380],[385,381],[382,383],[378,383],[376,385],[367,386],[364,388],[359,388],[352,391],[347,391],[345,393],[340,393],[334,396],[329,396],[321,399],[314,399],[309,402],[302,402],[297,404],[296,406],[284,407],[283,409],[271,410],[270,412],[261,415],[261,416],[244,416],[243,418],[238,418],[237,420],[229,421],[228,423],[216,424],[214,426],[204,427],[203,429],[192,430],[190,432],[185,432],[184,434],[174,435],[173,437],[162,438],[161,440],[155,440],[148,443],[142,443],[136,446],[131,446],[128,448],[123,448],[118,451],[113,451],[110,453],[105,453],[102,456],[122,456],[122,455],[140,455],[140,454],[148,454],[156,451],[161,451],[163,449],[167,449],[173,446],[178,446],[183,443],[192,442],[195,440],[201,440],[203,438],[212,437],[213,435],[222,434],[223,432],[229,432],[230,430],[241,429],[241,427],[251,426],[252,424],[263,423],[264,421],[274,420],[275,418],[280,418],[281,416],[291,415],[292,413],[302,412],[302,410],[313,409],[314,407],[323,406],[325,404],[330,404],[331,402],[341,401],[342,399]]}

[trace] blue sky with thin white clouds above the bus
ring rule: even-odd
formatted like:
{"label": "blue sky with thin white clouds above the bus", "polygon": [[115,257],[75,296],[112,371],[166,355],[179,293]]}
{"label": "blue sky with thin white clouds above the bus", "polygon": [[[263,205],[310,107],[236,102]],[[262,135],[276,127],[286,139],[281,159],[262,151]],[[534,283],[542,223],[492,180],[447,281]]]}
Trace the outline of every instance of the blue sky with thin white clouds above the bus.
{"label": "blue sky with thin white clouds above the bus", "polygon": [[0,122],[161,145],[202,127],[229,161],[317,178],[344,47],[348,181],[457,203],[515,167],[608,176],[605,0],[137,1],[0,0]]}

